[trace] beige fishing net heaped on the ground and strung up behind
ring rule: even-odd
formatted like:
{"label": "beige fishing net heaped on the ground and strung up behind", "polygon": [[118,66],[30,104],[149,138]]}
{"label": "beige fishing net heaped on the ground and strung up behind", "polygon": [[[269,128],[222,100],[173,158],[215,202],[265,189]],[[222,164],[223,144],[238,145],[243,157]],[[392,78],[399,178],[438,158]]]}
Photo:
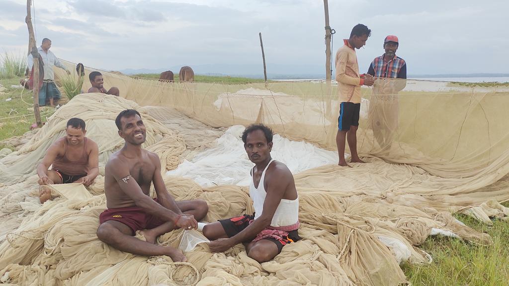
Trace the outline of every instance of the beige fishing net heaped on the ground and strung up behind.
{"label": "beige fishing net heaped on the ground and strung up behind", "polygon": [[[508,146],[506,128],[490,125],[491,137],[466,142],[465,136],[472,136],[469,132],[475,128],[456,126],[457,118],[463,116],[462,122],[471,119],[465,113],[447,115],[453,127],[440,120],[425,126],[406,120],[418,120],[426,109],[405,114],[400,108],[400,130],[389,147],[374,144],[369,128],[359,129],[359,150],[366,164],[354,164],[354,168],[329,164],[294,174],[302,240],[285,246],[273,261],[259,264],[248,258],[242,245],[213,254],[207,244],[199,244],[185,253],[187,264],[174,264],[165,256],[149,258],[118,251],[99,241],[96,230],[99,214],[105,209],[104,164],[123,145],[114,123],[121,110],[134,108],[142,113],[147,126],[144,147],[159,155],[163,173],[217,147],[216,139],[225,128],[255,121],[271,125],[288,139],[305,139],[334,150],[331,138],[337,121],[329,113],[337,116],[338,110],[333,101],[335,89],[329,90],[324,82],[223,85],[103,75],[106,87],[118,86],[121,96],[130,100],[79,95],[56,111],[19,151],[0,158],[1,283],[399,285],[406,283],[401,262],[427,263],[432,259],[417,247],[432,234],[491,243],[487,234],[465,226],[451,212],[464,212],[487,223],[490,217],[509,215],[509,209],[497,203],[509,199],[509,153],[501,147]],[[424,100],[423,106],[434,108],[439,93],[431,94],[426,98],[418,92],[409,93],[400,107]],[[458,103],[465,100],[454,93],[440,95],[451,101],[456,97],[457,104],[451,108],[461,107]],[[470,98],[470,102],[477,100],[475,106],[468,105],[471,116],[478,116],[474,107],[487,108],[478,97],[473,93]],[[502,104],[505,98],[495,100]],[[365,94],[365,100],[369,99],[370,94]],[[502,118],[502,113],[496,116]],[[100,176],[89,190],[75,184],[54,186],[53,199],[41,206],[35,167],[48,146],[63,136],[71,117],[82,118],[87,136],[99,145]],[[361,127],[369,125],[367,120],[361,119]],[[486,120],[494,122],[489,116]],[[445,131],[463,130],[428,138],[440,125]],[[478,125],[474,127],[483,132]],[[433,140],[436,144],[422,147],[411,138],[411,132],[422,137],[423,144]],[[490,144],[483,145],[487,140]],[[439,148],[451,142],[456,142],[454,150]],[[245,186],[202,187],[191,179],[172,176],[165,176],[165,183],[177,200],[205,199],[209,204],[205,221],[252,212]],[[182,235],[181,230],[168,233],[159,243],[178,246]]]}

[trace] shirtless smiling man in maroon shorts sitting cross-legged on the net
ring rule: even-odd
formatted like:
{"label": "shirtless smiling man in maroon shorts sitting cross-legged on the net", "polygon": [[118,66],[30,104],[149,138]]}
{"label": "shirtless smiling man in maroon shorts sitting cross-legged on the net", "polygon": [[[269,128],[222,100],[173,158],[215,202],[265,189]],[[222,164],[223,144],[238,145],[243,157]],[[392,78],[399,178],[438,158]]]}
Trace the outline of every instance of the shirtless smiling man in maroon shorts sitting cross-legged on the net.
{"label": "shirtless smiling man in maroon shorts sitting cross-legged on the net", "polygon": [[[197,221],[208,212],[202,200],[176,202],[166,190],[161,176],[161,161],[142,148],[145,125],[138,111],[127,109],[115,120],[124,147],[111,155],[106,164],[104,193],[108,207],[99,217],[97,237],[121,251],[145,255],[167,255],[174,262],[186,261],[172,246],[154,244],[159,235],[178,228],[197,228]],[[149,196],[154,183],[157,199]],[[133,235],[142,231],[146,241]]]}

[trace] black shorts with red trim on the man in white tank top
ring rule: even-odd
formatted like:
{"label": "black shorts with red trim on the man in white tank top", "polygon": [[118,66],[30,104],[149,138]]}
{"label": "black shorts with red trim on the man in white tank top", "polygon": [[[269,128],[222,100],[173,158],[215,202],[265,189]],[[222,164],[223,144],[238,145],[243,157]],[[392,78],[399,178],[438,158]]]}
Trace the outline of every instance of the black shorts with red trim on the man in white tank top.
{"label": "black shorts with red trim on the man in white tank top", "polygon": [[[249,221],[254,219],[254,215],[242,215],[227,219],[221,219],[219,222],[221,223],[221,226],[224,229],[224,232],[227,234],[228,237],[233,237],[236,234],[243,231],[248,225]],[[264,238],[264,240],[272,241],[277,246],[277,253],[281,252],[281,249],[283,246],[292,243],[297,242],[300,240],[299,232],[298,230],[290,231],[288,232],[288,236],[283,239],[275,239],[275,238]],[[245,241],[250,242],[250,241]]]}

